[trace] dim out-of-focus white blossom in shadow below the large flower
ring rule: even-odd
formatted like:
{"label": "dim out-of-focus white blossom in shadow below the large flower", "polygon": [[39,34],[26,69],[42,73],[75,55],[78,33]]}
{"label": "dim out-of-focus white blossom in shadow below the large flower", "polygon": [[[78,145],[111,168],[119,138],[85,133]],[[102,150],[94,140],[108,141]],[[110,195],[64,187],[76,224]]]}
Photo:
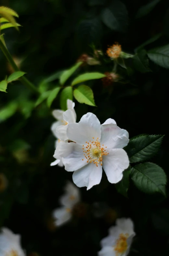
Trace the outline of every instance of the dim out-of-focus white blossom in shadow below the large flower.
{"label": "dim out-of-focus white blossom in shadow below the large flower", "polygon": [[62,206],[53,211],[56,226],[61,226],[71,219],[73,206],[80,202],[79,189],[68,182],[65,186],[65,194],[60,197],[59,202]]}

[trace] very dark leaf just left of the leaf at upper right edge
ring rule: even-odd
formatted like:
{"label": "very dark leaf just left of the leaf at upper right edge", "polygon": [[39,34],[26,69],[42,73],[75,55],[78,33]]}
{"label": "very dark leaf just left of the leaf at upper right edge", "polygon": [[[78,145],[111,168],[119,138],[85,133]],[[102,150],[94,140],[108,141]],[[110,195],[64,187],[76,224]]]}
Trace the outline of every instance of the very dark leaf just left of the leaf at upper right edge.
{"label": "very dark leaf just left of the leaf at upper right edge", "polygon": [[147,57],[147,52],[142,49],[136,53],[133,57],[133,65],[136,70],[141,73],[150,72],[151,69],[149,68],[149,59]]}

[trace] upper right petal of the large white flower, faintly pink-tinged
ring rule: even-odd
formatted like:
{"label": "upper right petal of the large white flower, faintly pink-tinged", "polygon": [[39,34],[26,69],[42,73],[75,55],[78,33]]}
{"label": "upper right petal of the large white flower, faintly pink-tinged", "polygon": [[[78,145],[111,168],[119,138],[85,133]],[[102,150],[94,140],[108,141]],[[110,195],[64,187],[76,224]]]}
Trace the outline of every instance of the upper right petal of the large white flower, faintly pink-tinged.
{"label": "upper right petal of the large white flower, faintly pink-tinged", "polygon": [[129,138],[126,130],[112,123],[101,125],[101,144],[104,144],[107,148],[123,148],[128,142]]}

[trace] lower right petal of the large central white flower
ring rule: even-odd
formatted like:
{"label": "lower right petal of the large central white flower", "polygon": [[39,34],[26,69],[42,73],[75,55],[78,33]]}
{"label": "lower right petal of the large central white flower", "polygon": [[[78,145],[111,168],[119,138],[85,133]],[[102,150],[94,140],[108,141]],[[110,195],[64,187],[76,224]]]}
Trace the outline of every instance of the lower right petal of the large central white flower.
{"label": "lower right petal of the large central white flower", "polygon": [[108,150],[109,155],[103,156],[103,169],[110,183],[117,183],[123,177],[123,171],[129,166],[127,153],[121,149]]}

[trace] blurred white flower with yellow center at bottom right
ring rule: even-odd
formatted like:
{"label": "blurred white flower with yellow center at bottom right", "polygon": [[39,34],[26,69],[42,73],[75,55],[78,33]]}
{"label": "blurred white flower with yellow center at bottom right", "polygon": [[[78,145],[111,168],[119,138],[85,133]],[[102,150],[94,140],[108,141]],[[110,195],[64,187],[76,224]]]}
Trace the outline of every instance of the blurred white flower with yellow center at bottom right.
{"label": "blurred white flower with yellow center at bottom right", "polygon": [[119,218],[116,226],[109,229],[109,235],[101,240],[102,249],[98,256],[126,256],[135,236],[133,221],[130,218]]}

